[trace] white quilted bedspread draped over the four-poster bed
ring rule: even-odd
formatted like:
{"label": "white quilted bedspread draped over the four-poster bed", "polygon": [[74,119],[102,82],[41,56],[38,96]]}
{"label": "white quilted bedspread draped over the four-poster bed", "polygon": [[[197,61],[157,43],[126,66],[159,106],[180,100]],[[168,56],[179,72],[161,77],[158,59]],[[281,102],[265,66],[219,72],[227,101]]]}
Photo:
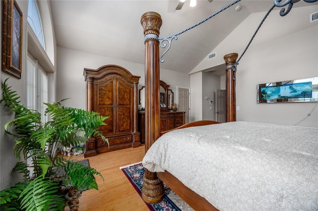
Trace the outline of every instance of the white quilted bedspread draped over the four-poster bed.
{"label": "white quilted bedspread draped over the four-poster bed", "polygon": [[318,128],[228,122],[174,130],[143,165],[221,211],[317,211]]}

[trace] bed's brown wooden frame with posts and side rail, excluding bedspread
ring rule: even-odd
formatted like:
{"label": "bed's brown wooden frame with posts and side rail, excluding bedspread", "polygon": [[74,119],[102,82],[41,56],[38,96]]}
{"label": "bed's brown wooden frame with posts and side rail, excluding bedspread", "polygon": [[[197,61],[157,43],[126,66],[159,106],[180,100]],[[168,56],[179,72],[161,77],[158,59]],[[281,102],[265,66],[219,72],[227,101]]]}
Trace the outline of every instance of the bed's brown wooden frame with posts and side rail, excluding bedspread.
{"label": "bed's brown wooden frame with posts and side rail, excluding bedspread", "polygon": [[[159,31],[162,24],[157,12],[146,12],[141,17],[145,35],[145,151],[155,143],[160,136],[160,83],[159,83]],[[237,53],[224,56],[226,69],[227,106],[226,121],[236,121],[236,93],[234,70]],[[215,121],[198,121],[184,127],[215,124]],[[158,178],[159,177],[159,178]],[[184,186],[177,178],[168,172],[155,173],[145,169],[142,198],[146,203],[159,203],[164,196],[163,182],[174,190],[186,203],[195,210],[217,210],[207,200]],[[196,203],[197,201],[197,203]],[[206,208],[206,209],[203,209]]]}

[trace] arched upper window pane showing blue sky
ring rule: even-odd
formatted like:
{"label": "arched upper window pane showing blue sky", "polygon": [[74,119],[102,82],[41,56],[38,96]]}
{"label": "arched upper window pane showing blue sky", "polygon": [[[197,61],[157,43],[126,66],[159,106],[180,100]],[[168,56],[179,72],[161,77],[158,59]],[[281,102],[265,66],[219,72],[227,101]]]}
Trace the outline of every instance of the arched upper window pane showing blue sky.
{"label": "arched upper window pane showing blue sky", "polygon": [[41,43],[43,49],[45,49],[41,15],[35,0],[29,0],[28,23],[30,24],[33,32],[35,33],[35,36]]}

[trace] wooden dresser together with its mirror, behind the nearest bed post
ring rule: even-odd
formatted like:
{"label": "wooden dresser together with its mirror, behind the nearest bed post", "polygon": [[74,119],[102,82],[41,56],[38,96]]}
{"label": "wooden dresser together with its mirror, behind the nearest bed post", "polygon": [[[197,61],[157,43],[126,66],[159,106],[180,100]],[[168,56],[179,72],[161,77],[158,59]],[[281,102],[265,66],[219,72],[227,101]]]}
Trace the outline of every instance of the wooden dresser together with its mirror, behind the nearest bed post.
{"label": "wooden dresser together with its mirror, behind the nearest bed post", "polygon": [[[164,81],[160,80],[160,132],[171,130],[185,123],[185,112],[171,110],[173,105],[173,92]],[[145,87],[139,89],[138,105],[138,131],[140,132],[141,143],[145,143]]]}

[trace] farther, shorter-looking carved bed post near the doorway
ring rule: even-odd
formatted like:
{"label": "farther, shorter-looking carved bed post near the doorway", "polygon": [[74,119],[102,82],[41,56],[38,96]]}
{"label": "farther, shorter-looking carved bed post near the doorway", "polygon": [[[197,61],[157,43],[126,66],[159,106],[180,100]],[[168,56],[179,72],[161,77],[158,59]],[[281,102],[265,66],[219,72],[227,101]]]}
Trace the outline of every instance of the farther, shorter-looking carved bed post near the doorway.
{"label": "farther, shorter-looking carved bed post near the doorway", "polygon": [[230,53],[224,56],[226,65],[226,89],[227,89],[227,109],[226,122],[237,120],[236,93],[233,65],[237,62],[238,53]]}

